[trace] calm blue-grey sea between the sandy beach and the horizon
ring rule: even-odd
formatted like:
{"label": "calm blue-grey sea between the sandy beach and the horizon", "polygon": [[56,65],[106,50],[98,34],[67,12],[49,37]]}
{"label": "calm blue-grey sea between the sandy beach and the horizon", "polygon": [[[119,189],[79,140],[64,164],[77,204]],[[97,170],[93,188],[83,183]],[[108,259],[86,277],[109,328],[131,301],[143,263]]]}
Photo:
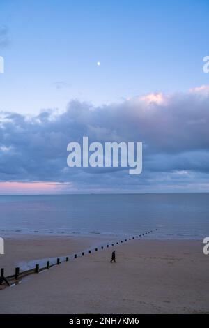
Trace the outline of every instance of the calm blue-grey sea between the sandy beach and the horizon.
{"label": "calm blue-grey sea between the sandy beach and the horizon", "polygon": [[0,196],[0,236],[20,234],[209,237],[209,194]]}

